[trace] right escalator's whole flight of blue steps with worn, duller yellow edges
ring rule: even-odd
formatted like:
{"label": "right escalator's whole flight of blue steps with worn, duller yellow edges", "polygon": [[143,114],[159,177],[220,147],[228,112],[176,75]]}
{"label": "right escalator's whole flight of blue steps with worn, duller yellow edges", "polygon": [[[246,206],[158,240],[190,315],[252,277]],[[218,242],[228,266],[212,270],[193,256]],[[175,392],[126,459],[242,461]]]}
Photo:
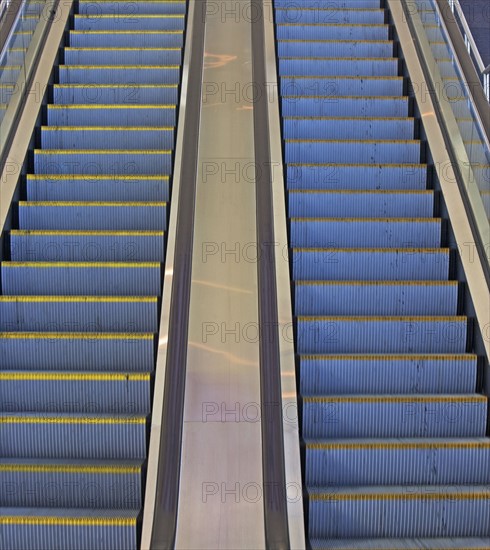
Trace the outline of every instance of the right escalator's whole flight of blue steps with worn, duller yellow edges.
{"label": "right escalator's whole flight of blue steps with worn, duller yellow edges", "polygon": [[275,0],[311,548],[489,548],[483,357],[381,0]]}

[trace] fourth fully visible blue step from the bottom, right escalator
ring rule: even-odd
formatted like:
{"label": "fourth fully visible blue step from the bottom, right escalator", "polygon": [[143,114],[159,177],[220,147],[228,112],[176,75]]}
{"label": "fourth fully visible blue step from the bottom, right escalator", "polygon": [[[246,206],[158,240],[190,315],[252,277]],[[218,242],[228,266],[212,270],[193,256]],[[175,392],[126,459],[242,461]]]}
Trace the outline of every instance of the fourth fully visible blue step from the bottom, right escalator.
{"label": "fourth fully visible blue step from the bottom, right escalator", "polygon": [[476,355],[300,355],[301,394],[472,393]]}

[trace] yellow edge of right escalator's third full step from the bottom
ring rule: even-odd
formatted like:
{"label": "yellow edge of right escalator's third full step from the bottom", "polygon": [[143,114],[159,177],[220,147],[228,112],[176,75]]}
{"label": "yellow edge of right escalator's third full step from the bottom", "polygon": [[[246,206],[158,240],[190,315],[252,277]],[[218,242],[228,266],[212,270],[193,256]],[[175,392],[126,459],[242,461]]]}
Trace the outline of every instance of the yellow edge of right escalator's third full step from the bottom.
{"label": "yellow edge of right escalator's third full step from the bottom", "polygon": [[486,403],[485,395],[349,395],[304,397],[305,403]]}

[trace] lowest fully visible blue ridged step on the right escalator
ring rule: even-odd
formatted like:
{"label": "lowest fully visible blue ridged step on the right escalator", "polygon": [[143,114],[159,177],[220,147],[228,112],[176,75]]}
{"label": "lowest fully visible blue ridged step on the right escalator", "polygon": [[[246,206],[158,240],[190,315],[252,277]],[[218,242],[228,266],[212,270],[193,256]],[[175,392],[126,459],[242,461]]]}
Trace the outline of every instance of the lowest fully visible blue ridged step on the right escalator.
{"label": "lowest fully visible blue ridged step on the right escalator", "polygon": [[488,486],[333,487],[309,499],[312,538],[490,535]]}

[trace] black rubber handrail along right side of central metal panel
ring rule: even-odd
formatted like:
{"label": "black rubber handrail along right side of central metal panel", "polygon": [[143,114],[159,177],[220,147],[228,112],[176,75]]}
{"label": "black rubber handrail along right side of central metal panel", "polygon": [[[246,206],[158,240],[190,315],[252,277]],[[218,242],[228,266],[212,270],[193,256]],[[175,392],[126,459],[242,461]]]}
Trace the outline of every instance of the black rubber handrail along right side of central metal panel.
{"label": "black rubber handrail along right side of central metal panel", "polygon": [[[252,13],[263,13],[261,0],[252,0]],[[252,21],[252,67],[254,81],[255,196],[257,212],[257,249],[270,250],[274,243],[272,171],[265,71],[265,37],[262,17]],[[262,477],[266,548],[290,547],[282,392],[277,313],[276,265],[273,254],[259,254],[257,262],[260,393],[262,410]]]}

